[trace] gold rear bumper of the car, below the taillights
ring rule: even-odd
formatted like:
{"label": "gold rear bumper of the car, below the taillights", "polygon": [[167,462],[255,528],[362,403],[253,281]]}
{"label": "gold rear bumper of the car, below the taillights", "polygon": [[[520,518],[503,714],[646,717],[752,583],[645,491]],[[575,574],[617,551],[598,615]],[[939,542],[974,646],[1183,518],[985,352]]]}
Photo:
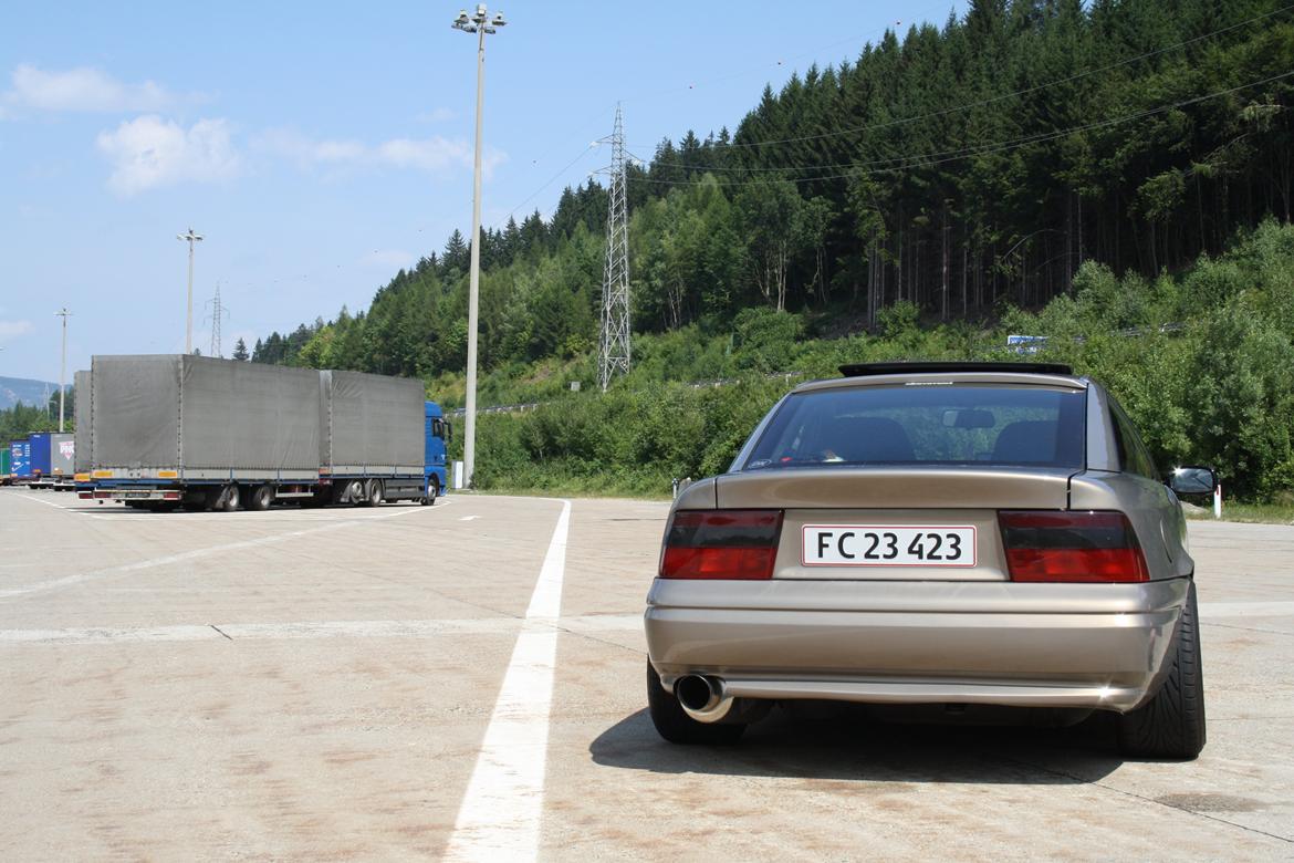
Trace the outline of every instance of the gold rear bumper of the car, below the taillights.
{"label": "gold rear bumper of the car, below the taillights", "polygon": [[657,580],[647,644],[666,688],[1126,712],[1158,688],[1188,586]]}

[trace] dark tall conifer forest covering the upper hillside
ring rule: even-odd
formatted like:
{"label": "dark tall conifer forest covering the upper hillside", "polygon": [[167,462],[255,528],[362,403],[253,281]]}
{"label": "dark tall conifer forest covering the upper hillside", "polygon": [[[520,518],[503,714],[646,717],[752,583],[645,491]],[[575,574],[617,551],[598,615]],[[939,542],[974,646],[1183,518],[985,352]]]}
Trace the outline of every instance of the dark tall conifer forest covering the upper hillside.
{"label": "dark tall conifer forest covering the upper hillside", "polygon": [[[982,318],[1069,295],[1084,260],[1154,276],[1288,221],[1291,21],[1276,0],[972,0],[792,75],[731,133],[630,167],[635,331],[723,329],[748,308],[836,334],[895,303]],[[551,220],[483,232],[487,369],[595,349],[606,216],[590,180]],[[454,232],[369,309],[273,333],[251,358],[461,370],[468,254]]]}

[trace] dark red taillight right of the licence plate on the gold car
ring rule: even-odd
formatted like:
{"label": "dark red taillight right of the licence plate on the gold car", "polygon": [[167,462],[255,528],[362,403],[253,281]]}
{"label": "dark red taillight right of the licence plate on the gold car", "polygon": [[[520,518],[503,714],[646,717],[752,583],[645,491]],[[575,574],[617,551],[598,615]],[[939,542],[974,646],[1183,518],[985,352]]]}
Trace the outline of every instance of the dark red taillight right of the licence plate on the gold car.
{"label": "dark red taillight right of the licence plate on the gold car", "polygon": [[999,512],[1012,581],[1149,581],[1122,512]]}

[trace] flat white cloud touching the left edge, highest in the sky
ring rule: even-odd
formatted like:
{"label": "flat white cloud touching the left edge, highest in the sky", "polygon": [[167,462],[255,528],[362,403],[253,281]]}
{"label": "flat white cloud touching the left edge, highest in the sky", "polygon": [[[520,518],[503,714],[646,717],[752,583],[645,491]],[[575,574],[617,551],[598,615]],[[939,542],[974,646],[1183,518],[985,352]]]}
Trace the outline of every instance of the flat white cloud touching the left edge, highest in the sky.
{"label": "flat white cloud touching the left edge, highest in the sky", "polygon": [[[97,69],[45,71],[22,65],[0,97],[14,109],[38,111],[158,111],[179,100],[153,82],[124,84]],[[12,115],[13,113],[9,111]]]}

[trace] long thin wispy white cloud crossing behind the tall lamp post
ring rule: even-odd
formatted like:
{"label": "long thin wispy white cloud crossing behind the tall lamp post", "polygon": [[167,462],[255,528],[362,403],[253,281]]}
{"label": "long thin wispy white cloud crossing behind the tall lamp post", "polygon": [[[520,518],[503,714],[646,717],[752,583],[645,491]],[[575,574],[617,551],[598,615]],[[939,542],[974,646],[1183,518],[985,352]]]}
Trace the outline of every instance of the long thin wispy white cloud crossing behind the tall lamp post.
{"label": "long thin wispy white cloud crossing behind the tall lamp post", "polygon": [[[276,129],[260,136],[256,145],[268,153],[295,160],[302,168],[312,167],[387,167],[411,168],[427,173],[446,173],[472,168],[472,147],[439,135],[430,138],[392,138],[377,145],[352,140],[314,141],[296,132]],[[481,155],[481,172],[488,177],[507,155],[487,149]]]}

